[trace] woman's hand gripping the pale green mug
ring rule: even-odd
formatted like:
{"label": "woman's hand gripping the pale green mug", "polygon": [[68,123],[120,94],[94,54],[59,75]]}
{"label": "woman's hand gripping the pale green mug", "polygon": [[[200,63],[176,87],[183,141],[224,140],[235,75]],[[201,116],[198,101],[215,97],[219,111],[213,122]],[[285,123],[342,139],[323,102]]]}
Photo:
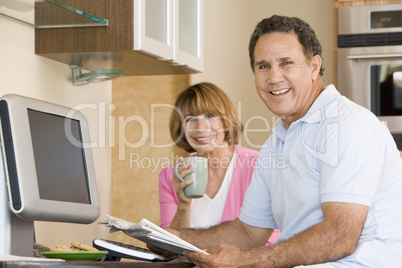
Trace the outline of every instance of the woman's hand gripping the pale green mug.
{"label": "woman's hand gripping the pale green mug", "polygon": [[[179,157],[177,159],[177,163],[182,163],[183,157]],[[177,164],[176,163],[176,164]],[[194,172],[194,168],[191,166],[190,162],[184,163],[177,168],[177,173],[180,175],[181,178],[191,174]],[[177,198],[179,199],[179,206],[180,205],[190,205],[191,199],[187,198],[184,194],[184,188],[194,182],[193,179],[185,180],[183,182],[179,181],[175,176],[172,179],[173,188],[177,194]]]}

